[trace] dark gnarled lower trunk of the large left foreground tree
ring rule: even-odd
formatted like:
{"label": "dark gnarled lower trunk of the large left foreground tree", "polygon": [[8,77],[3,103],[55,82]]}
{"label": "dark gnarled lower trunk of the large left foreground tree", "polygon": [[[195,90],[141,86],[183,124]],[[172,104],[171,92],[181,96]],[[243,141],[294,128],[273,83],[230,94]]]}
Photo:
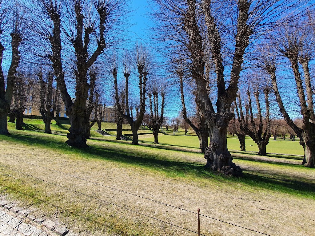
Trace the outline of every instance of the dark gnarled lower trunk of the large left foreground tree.
{"label": "dark gnarled lower trunk of the large left foreground tree", "polygon": [[83,137],[83,128],[82,128],[82,123],[83,123],[83,118],[84,115],[82,114],[71,114],[68,115],[71,123],[71,127],[69,129],[69,133],[67,134],[68,140],[66,143],[69,146],[74,146],[77,148],[87,148],[89,147],[86,144],[86,138]]}

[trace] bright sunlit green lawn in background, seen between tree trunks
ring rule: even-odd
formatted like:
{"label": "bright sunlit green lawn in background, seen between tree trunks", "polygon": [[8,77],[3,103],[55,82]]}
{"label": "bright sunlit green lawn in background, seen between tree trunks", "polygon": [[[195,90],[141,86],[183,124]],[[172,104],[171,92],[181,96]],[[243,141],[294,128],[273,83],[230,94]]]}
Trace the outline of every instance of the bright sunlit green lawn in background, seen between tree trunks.
{"label": "bright sunlit green lawn in background, seen between tree trunks", "polygon": [[[24,119],[26,123],[23,125],[25,130],[33,130],[33,131],[44,131],[45,125],[43,120],[40,119]],[[52,121],[51,130],[55,133],[62,133],[67,134],[68,129],[70,128],[70,124],[68,120],[60,120],[61,125],[56,125],[55,121]],[[115,129],[115,123],[109,122],[102,122],[101,127],[103,130],[106,129]],[[8,123],[9,129],[14,129],[14,123]],[[97,130],[98,126],[95,123],[91,130],[91,137],[102,137],[97,132],[93,130]],[[131,134],[129,124],[123,124],[123,135]],[[111,135],[115,136],[116,131],[110,131]],[[141,133],[152,133],[152,130],[149,130],[147,127],[144,128],[141,126],[141,129],[138,131],[139,134]],[[164,135],[167,134],[167,135]],[[188,148],[199,148],[199,140],[192,130],[188,130],[188,135],[184,135],[185,131],[183,129],[178,129],[178,132],[173,135],[173,131],[169,128],[169,131],[163,129],[163,134],[159,134],[159,143],[164,145],[172,145],[172,146],[181,146],[181,147],[188,147]],[[233,151],[239,150],[239,142],[236,136],[228,135],[227,136],[227,145],[228,149]],[[113,137],[112,137],[113,139]],[[154,137],[151,134],[139,135],[139,141],[144,143],[153,143]],[[246,137],[246,150],[248,152],[258,152],[257,144],[250,138]],[[272,138],[269,140],[269,144],[267,145],[267,152],[269,153],[278,153],[278,154],[287,154],[287,155],[304,155],[304,151],[302,146],[299,144],[298,141],[292,142],[291,140],[282,140],[278,138],[277,141],[273,141]]]}

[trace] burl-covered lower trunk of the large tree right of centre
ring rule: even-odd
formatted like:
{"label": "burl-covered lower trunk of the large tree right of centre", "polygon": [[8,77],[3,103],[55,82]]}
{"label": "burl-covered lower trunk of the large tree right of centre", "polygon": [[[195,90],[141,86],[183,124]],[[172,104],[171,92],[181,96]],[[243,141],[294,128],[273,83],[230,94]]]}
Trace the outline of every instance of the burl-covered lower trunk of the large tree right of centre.
{"label": "burl-covered lower trunk of the large tree right of centre", "polygon": [[227,126],[221,129],[216,126],[210,127],[211,143],[204,152],[204,158],[207,160],[205,168],[240,177],[243,175],[242,169],[232,162],[233,158],[227,149],[226,133]]}

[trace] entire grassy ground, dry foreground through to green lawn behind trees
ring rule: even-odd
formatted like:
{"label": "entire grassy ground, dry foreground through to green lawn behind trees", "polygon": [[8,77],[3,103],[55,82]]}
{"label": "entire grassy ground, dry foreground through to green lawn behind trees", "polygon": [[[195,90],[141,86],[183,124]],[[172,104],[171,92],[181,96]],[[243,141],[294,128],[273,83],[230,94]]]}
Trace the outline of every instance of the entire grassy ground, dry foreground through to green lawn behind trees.
{"label": "entire grassy ground, dry foreground through to green lawn behind trees", "polygon": [[[205,160],[198,153],[197,137],[161,134],[160,142],[167,145],[154,145],[147,137],[151,135],[141,135],[147,143],[133,146],[92,132],[90,148],[75,149],[65,143],[68,125],[52,125],[55,134],[49,135],[43,133],[42,121],[25,122],[27,130],[16,131],[9,124],[12,135],[0,136],[0,194],[33,215],[53,221],[57,207],[60,226],[67,225],[76,235],[194,235],[108,204],[196,231],[194,214],[148,199],[193,212],[200,208],[203,215],[270,235],[311,235],[315,230],[315,170],[298,165],[299,157],[234,153],[244,176],[226,177],[203,169]],[[171,145],[176,140],[177,146]],[[238,141],[228,140],[229,147]],[[301,155],[294,148],[292,152],[276,148],[272,149],[277,153]],[[205,217],[201,218],[201,233],[259,235]]]}

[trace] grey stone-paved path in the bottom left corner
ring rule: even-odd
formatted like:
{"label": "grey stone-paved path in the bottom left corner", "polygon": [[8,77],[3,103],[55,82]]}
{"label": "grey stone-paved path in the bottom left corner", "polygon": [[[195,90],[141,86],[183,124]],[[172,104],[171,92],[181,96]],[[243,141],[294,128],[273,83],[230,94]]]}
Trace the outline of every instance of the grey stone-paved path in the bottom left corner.
{"label": "grey stone-paved path in the bottom left corner", "polygon": [[0,210],[0,236],[48,236],[42,230]]}

